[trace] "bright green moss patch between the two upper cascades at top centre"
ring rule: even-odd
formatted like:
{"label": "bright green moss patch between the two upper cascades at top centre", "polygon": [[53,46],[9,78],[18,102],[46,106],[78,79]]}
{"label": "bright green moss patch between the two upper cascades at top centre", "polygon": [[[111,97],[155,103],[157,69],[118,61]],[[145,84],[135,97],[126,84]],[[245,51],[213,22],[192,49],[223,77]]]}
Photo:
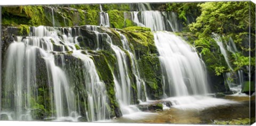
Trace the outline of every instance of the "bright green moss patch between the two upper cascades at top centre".
{"label": "bright green moss patch between the two upper cascades at top centre", "polygon": [[108,11],[111,28],[124,28],[124,12],[118,10]]}

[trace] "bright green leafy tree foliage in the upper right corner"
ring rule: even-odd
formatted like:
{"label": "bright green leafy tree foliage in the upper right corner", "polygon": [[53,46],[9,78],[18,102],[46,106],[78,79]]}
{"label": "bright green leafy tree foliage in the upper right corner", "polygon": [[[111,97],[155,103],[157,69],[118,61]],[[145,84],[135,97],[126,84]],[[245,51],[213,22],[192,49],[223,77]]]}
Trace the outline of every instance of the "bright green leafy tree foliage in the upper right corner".
{"label": "bright green leafy tree foliage in the upper right corner", "polygon": [[227,64],[222,62],[225,60],[218,45],[212,39],[212,32],[225,35],[222,37],[222,41],[228,41],[230,37],[234,39],[239,52],[235,55],[229,52],[229,58],[235,71],[249,64],[249,57],[241,53],[248,51],[248,47],[244,46],[244,43],[246,43],[246,36],[249,35],[247,30],[250,26],[249,4],[250,2],[206,2],[198,4],[202,13],[196,22],[189,24],[189,28],[198,37],[195,40],[195,46],[197,51],[202,54],[210,72],[213,73],[214,71],[216,75],[221,75],[223,72],[230,71]]}

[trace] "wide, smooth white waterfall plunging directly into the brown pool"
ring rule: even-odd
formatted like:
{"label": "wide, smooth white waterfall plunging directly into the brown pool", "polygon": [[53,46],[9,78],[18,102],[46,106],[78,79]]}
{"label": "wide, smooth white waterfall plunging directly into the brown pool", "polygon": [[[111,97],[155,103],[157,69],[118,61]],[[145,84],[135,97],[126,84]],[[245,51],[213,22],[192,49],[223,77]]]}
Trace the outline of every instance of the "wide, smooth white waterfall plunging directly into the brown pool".
{"label": "wide, smooth white waterfall plunging directly into the brown pool", "polygon": [[208,93],[204,63],[195,48],[169,32],[157,31],[154,38],[159,52],[166,95]]}

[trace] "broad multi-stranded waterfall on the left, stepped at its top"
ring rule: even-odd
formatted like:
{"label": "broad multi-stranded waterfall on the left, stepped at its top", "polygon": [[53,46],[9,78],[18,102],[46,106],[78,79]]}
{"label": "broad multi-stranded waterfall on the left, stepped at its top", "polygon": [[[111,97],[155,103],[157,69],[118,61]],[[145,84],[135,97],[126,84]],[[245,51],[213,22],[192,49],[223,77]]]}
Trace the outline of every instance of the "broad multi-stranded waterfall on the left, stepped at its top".
{"label": "broad multi-stranded waterfall on the left, stepped at its top", "polygon": [[[73,30],[69,28],[67,35],[62,33],[62,30],[62,28],[34,27],[31,29],[30,36],[23,39],[18,37],[18,40],[14,41],[7,49],[3,85],[4,94],[6,94],[3,99],[6,101],[1,101],[3,105],[1,106],[1,113],[14,113],[11,114],[9,119],[33,120],[31,111],[35,105],[31,105],[30,100],[37,101],[36,71],[38,63],[36,61],[39,57],[43,58],[46,65],[47,87],[50,91],[45,97],[50,98],[53,119],[56,121],[78,121],[78,118],[81,117],[78,113],[81,112],[76,109],[77,101],[75,97],[87,99],[88,106],[84,108],[87,111],[87,120],[109,119],[105,84],[99,79],[90,55],[82,54],[81,51],[77,51],[75,48],[75,44],[78,44],[76,36],[79,35],[79,29],[78,33],[72,33]],[[69,63],[68,60],[63,59],[63,54],[66,51],[73,51],[71,55],[83,62],[81,69],[84,77],[77,81],[84,83],[87,97],[75,95],[70,75],[64,69],[64,66]],[[58,54],[58,52],[62,53]],[[58,55],[61,57],[62,67],[56,63],[55,56]],[[10,101],[7,102],[7,99],[10,99]]]}

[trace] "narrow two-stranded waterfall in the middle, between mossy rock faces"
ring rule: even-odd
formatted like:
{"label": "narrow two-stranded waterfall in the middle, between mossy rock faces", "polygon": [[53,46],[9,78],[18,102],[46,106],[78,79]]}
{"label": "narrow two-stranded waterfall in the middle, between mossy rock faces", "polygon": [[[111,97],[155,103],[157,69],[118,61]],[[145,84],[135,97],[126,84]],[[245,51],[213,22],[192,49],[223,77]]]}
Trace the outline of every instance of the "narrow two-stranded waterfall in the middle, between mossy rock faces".
{"label": "narrow two-stranded waterfall in the middle, between mossy rock faces", "polygon": [[[135,60],[134,54],[131,52],[129,47],[129,42],[127,38],[117,31],[121,36],[122,47],[119,47],[113,44],[111,37],[107,33],[101,33],[98,31],[98,26],[86,26],[87,30],[93,31],[95,33],[97,48],[95,51],[99,51],[104,49],[103,47],[99,46],[100,41],[106,41],[111,50],[113,51],[116,57],[116,72],[113,71],[114,75],[114,83],[115,83],[115,93],[116,98],[121,107],[121,112],[123,115],[131,114],[135,112],[140,112],[140,110],[132,105],[132,80],[129,78],[129,75],[134,75],[137,85],[138,91],[138,99],[143,100],[146,99],[146,89],[145,89],[145,82],[140,78],[140,74],[138,71],[137,61]],[[126,53],[127,52],[127,53]],[[129,62],[127,59],[131,57],[131,65],[132,69],[129,70]]]}

